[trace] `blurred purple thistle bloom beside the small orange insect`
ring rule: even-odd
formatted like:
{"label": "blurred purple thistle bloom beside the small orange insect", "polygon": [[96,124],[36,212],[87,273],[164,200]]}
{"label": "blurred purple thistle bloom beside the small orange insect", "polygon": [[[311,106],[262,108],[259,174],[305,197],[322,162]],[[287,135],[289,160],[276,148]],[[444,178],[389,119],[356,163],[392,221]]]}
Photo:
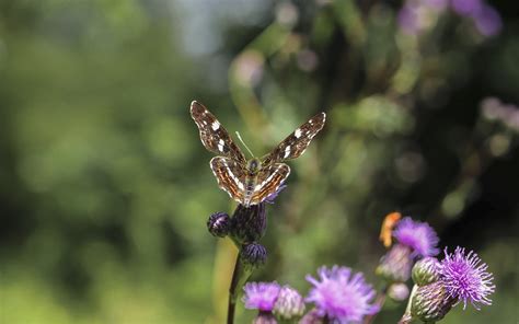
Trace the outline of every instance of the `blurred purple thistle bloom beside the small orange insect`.
{"label": "blurred purple thistle bloom beside the small orange insect", "polygon": [[402,219],[393,236],[403,245],[413,248],[413,256],[432,256],[438,254],[438,235],[426,222],[414,221],[410,217]]}

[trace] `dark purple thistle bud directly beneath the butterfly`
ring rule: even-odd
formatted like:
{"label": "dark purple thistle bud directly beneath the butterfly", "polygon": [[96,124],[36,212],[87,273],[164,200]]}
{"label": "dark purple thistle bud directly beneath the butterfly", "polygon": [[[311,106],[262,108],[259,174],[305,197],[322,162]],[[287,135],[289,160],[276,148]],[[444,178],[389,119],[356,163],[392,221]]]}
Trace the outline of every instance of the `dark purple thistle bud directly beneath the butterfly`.
{"label": "dark purple thistle bud directly beneath the butterfly", "polygon": [[267,218],[265,204],[245,207],[238,205],[232,216],[230,235],[239,245],[258,241],[265,234]]}

